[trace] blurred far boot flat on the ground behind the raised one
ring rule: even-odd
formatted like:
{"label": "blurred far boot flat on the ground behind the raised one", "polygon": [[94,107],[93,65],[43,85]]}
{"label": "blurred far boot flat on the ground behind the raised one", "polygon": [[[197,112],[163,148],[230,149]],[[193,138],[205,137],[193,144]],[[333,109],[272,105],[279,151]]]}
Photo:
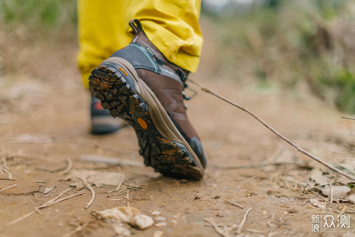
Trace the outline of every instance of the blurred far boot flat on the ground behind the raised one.
{"label": "blurred far boot flat on the ground behind the raised one", "polygon": [[101,101],[91,96],[90,105],[91,133],[104,135],[116,132],[124,126],[124,121],[118,121],[109,114],[109,111],[101,106]]}

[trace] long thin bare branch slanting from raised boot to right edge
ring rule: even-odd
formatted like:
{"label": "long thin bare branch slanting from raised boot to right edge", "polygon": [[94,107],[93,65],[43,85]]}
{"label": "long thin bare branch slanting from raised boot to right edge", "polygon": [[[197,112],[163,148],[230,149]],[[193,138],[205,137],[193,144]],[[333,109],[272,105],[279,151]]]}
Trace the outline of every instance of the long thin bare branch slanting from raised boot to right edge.
{"label": "long thin bare branch slanting from raised boot to right edge", "polygon": [[257,117],[253,112],[251,112],[250,110],[248,110],[246,107],[244,106],[240,106],[226,98],[224,98],[223,96],[221,95],[218,95],[217,93],[213,92],[212,90],[204,87],[203,85],[191,80],[191,79],[188,79],[189,81],[191,81],[192,83],[194,83],[195,85],[199,86],[203,91],[209,93],[209,94],[212,94],[214,96],[216,96],[217,98],[247,112],[249,115],[251,115],[252,117],[254,117],[256,120],[258,120],[259,122],[261,122],[265,127],[267,127],[268,129],[270,129],[273,133],[275,133],[276,135],[278,135],[279,137],[281,137],[285,142],[287,142],[288,144],[290,144],[292,147],[296,148],[297,151],[305,154],[306,156],[318,161],[319,163],[321,163],[322,165],[324,165],[325,167],[337,172],[338,174],[341,174],[341,175],[344,175],[345,177],[349,178],[349,179],[352,179],[352,180],[355,180],[355,177],[350,175],[350,174],[347,174],[343,171],[341,171],[340,169],[337,169],[335,168],[334,166],[324,162],[323,160],[321,160],[320,158],[317,158],[316,156],[312,155],[311,153],[303,150],[302,148],[300,148],[299,146],[297,146],[296,144],[294,144],[293,142],[291,142],[288,138],[286,138],[284,135],[282,135],[281,133],[279,133],[278,131],[276,131],[274,128],[272,128],[269,124],[267,124],[266,122],[264,122],[261,118]]}

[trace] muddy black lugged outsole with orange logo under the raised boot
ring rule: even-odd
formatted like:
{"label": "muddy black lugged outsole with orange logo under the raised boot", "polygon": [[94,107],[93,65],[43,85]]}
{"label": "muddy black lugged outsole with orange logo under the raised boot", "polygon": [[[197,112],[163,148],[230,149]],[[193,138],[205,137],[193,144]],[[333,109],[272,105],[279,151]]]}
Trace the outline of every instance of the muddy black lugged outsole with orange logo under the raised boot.
{"label": "muddy black lugged outsole with orange logo under the raised boot", "polygon": [[[130,75],[128,75],[130,77]],[[183,144],[164,138],[149,115],[147,103],[132,90],[128,80],[116,67],[101,65],[89,77],[89,86],[101,105],[113,117],[119,117],[135,129],[144,164],[164,175],[199,179],[203,170]]]}

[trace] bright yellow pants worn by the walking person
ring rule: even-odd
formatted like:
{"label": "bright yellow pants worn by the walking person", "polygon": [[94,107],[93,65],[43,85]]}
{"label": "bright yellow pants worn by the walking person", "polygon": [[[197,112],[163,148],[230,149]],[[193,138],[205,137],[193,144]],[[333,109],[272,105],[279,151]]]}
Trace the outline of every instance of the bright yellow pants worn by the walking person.
{"label": "bright yellow pants worn by the walking person", "polygon": [[88,86],[92,69],[133,38],[128,22],[141,21],[148,39],[172,63],[197,70],[202,34],[200,0],[78,0],[77,62]]}

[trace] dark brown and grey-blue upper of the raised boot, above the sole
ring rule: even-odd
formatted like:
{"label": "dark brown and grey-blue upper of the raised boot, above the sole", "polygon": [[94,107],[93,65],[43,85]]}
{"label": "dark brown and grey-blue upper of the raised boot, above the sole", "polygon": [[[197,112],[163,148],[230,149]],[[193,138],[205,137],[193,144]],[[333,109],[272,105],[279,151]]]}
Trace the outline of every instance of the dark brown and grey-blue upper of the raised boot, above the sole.
{"label": "dark brown and grey-blue upper of the raised boot, above the sole", "polygon": [[136,34],[134,39],[129,45],[113,53],[111,57],[121,57],[132,64],[139,78],[154,92],[205,168],[206,157],[200,138],[186,116],[183,103],[182,91],[189,72],[164,57],[145,36],[138,20],[131,21],[130,26]]}

